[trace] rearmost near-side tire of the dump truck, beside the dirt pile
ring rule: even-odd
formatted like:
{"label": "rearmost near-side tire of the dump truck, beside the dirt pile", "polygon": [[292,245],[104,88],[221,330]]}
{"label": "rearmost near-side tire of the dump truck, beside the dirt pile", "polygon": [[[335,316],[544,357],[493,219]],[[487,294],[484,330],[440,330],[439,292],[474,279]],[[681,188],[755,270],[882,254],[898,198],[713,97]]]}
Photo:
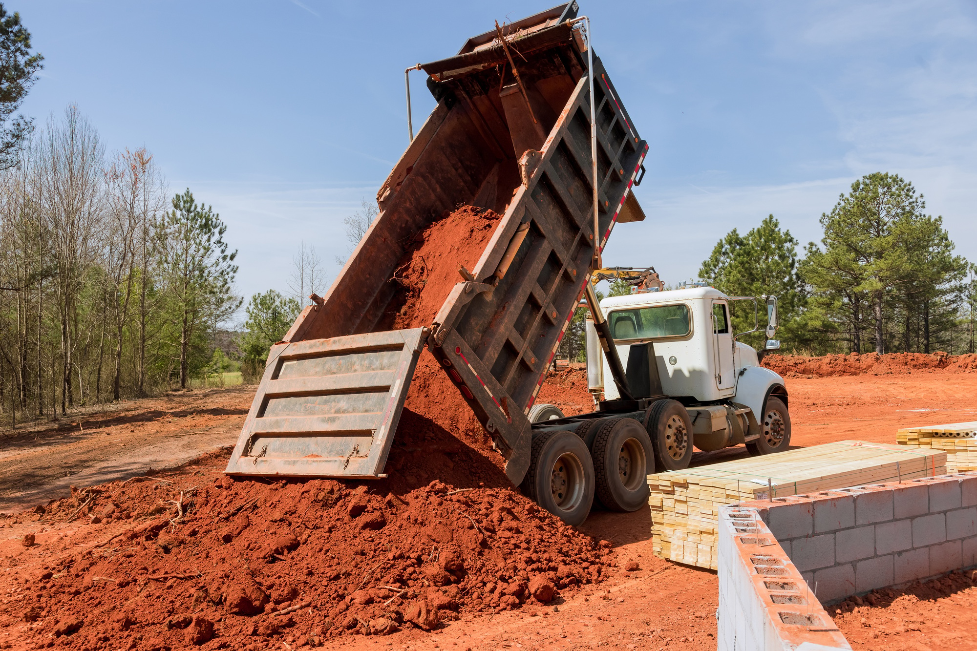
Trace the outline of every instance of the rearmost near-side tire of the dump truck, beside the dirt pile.
{"label": "rearmost near-side tire of the dump truck, beside the dirt pile", "polygon": [[582,524],[594,501],[594,464],[580,437],[565,430],[532,439],[523,494],[569,525]]}

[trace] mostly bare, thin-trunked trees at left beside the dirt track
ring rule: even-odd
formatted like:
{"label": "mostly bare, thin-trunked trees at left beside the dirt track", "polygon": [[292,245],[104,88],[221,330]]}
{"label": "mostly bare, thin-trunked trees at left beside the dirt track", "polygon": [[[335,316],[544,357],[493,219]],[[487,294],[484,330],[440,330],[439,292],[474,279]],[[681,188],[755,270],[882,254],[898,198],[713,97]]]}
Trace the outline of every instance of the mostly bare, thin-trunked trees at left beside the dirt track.
{"label": "mostly bare, thin-trunked trees at left beside the dirt track", "polygon": [[[5,420],[185,388],[240,306],[227,226],[69,107],[0,172]],[[215,355],[216,353],[216,355]]]}

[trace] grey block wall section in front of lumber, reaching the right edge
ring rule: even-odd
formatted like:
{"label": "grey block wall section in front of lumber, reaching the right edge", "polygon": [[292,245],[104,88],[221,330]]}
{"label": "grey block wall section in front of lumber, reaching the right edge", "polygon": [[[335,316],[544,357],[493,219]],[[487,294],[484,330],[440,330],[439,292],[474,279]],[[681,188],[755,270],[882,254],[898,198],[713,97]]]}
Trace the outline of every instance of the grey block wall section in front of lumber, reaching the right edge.
{"label": "grey block wall section in front of lumber, reaching the right edge", "polygon": [[742,506],[822,602],[977,565],[977,471]]}

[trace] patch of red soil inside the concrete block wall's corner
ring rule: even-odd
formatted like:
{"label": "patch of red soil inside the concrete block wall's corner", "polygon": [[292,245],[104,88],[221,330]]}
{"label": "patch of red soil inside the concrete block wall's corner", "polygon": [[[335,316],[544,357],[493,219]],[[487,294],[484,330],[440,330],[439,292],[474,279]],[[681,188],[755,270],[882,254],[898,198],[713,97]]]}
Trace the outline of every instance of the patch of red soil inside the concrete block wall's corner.
{"label": "patch of red soil inside the concrete block wall's corner", "polygon": [[872,590],[828,607],[828,613],[853,649],[972,649],[977,587],[970,574]]}

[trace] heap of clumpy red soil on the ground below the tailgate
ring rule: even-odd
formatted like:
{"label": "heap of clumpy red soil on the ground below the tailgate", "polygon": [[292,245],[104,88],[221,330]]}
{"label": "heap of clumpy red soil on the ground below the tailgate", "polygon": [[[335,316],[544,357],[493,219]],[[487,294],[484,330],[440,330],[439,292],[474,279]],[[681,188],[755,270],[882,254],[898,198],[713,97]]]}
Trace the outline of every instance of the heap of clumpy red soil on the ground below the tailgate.
{"label": "heap of clumpy red soil on the ground below the tailgate", "polygon": [[[0,606],[0,626],[30,648],[320,646],[547,603],[616,566],[610,543],[509,490],[234,481],[225,462],[214,455],[165,482],[114,482],[18,516],[73,517],[105,533],[80,551],[6,545],[13,574],[2,579],[18,597]],[[21,576],[28,555],[43,569]]]}

